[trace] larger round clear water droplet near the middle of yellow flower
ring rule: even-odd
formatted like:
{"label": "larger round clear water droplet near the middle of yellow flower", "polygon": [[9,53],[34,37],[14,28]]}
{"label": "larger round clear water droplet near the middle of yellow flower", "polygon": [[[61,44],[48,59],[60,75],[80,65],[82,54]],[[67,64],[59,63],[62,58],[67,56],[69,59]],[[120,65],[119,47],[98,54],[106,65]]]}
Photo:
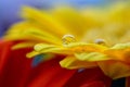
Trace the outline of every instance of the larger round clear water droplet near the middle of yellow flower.
{"label": "larger round clear water droplet near the middle of yellow flower", "polygon": [[64,35],[62,40],[64,46],[67,46],[68,44],[76,41],[75,36],[73,35]]}

